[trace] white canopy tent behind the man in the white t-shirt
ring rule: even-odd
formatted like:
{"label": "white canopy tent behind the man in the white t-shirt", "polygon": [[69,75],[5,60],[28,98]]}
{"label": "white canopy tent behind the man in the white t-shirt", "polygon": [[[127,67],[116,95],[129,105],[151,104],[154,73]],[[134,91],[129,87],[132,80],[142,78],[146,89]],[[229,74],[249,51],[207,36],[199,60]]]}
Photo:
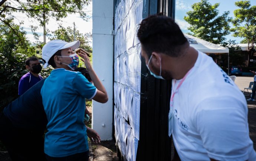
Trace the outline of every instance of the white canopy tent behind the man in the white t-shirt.
{"label": "white canopy tent behind the man in the white t-shirt", "polygon": [[203,53],[214,53],[214,54],[223,54],[228,53],[228,61],[227,61],[227,70],[229,73],[229,48],[222,47],[220,45],[216,45],[214,43],[207,42],[205,40],[199,39],[197,37],[191,36],[189,34],[184,33],[184,36],[188,39],[190,46],[194,47],[195,49],[199,50]]}

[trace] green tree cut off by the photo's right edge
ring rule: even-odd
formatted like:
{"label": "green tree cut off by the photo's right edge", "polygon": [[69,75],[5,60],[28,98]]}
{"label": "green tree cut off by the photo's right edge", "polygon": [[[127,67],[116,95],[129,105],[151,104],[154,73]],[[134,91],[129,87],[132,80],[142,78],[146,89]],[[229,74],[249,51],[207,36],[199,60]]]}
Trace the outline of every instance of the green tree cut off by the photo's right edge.
{"label": "green tree cut off by the photo's right edge", "polygon": [[[255,53],[256,41],[256,6],[251,6],[250,1],[237,1],[235,5],[240,9],[234,10],[235,18],[232,20],[234,37],[243,37],[247,40],[249,59]],[[243,42],[245,42],[243,40]],[[251,62],[249,62],[251,66]]]}

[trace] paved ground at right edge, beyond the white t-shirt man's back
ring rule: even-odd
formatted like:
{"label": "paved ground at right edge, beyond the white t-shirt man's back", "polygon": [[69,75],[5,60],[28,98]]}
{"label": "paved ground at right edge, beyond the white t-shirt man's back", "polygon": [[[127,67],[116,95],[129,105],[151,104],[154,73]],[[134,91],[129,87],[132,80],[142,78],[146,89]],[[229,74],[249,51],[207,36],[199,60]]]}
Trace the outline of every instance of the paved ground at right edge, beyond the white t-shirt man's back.
{"label": "paved ground at right edge, beyond the white t-shirt man's back", "polygon": [[[236,85],[243,92],[245,87],[249,86],[249,83],[253,81],[253,77],[237,77],[235,80]],[[249,95],[252,91],[249,90]],[[247,91],[244,92],[247,95]],[[246,99],[249,99],[250,96],[246,96]],[[253,141],[253,147],[256,150],[256,102],[247,101],[248,105],[248,122],[249,122],[249,131],[250,138]]]}

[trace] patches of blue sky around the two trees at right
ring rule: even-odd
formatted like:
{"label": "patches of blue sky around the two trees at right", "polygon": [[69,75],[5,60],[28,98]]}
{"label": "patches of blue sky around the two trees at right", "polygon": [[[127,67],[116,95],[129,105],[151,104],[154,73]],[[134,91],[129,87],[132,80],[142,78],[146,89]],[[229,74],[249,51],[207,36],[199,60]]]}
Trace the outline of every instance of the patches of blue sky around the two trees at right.
{"label": "patches of blue sky around the two trees at right", "polygon": [[[192,10],[192,4],[200,1],[201,0],[176,0],[175,21],[179,24],[184,33],[189,32],[189,30],[187,30],[189,24],[183,18],[186,15],[186,12]],[[230,11],[229,16],[232,18],[234,18],[234,10],[238,9],[234,4],[236,1],[238,0],[209,0],[212,5],[220,3],[220,6],[217,8],[219,14],[223,14],[225,11]],[[250,2],[251,6],[256,6],[256,0],[250,0]],[[233,24],[230,23],[230,26],[233,27]],[[243,38],[240,37],[233,37],[232,33],[227,35],[226,38],[227,40],[236,40],[237,43],[240,43],[240,41],[243,40]]]}

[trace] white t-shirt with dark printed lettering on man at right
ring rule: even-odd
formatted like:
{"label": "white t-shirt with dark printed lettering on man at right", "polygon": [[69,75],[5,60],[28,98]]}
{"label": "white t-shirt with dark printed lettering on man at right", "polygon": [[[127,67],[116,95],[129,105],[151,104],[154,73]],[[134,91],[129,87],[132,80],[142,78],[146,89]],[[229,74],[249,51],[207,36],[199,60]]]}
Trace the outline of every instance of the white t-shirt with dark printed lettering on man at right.
{"label": "white t-shirt with dark printed lettering on man at right", "polygon": [[256,160],[246,99],[212,58],[198,52],[173,102],[173,140],[182,161]]}

